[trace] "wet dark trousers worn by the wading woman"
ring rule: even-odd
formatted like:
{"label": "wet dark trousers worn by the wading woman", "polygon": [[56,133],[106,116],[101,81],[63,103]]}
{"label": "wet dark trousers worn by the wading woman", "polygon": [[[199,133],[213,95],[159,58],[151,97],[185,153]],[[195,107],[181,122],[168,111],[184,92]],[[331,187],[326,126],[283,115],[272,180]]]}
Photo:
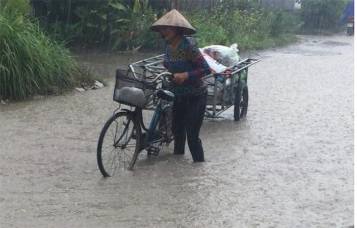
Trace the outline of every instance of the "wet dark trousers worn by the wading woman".
{"label": "wet dark trousers worn by the wading woman", "polygon": [[175,96],[172,110],[172,133],[174,154],[185,154],[186,135],[194,162],[205,161],[202,142],[199,139],[205,116],[207,91],[200,95]]}

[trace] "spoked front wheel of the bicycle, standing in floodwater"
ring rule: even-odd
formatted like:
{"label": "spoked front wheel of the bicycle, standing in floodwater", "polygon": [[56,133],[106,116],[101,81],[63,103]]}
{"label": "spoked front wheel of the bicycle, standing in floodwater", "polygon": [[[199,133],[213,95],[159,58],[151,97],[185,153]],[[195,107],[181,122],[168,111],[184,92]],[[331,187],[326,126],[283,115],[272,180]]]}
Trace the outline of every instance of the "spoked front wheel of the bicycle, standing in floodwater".
{"label": "spoked front wheel of the bicycle, standing in floodwater", "polygon": [[100,132],[98,167],[104,176],[133,170],[140,149],[141,129],[128,112],[114,114]]}

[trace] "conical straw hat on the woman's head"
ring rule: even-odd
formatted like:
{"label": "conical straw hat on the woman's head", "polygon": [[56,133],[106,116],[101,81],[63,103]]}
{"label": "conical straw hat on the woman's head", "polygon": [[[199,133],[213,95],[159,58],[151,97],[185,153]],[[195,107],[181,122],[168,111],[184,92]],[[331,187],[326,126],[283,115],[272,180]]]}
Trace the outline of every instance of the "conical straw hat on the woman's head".
{"label": "conical straw hat on the woman's head", "polygon": [[175,26],[182,28],[183,35],[192,35],[196,30],[191,26],[187,19],[177,10],[173,9],[166,13],[155,23],[151,24],[150,29],[160,33],[162,26]]}

